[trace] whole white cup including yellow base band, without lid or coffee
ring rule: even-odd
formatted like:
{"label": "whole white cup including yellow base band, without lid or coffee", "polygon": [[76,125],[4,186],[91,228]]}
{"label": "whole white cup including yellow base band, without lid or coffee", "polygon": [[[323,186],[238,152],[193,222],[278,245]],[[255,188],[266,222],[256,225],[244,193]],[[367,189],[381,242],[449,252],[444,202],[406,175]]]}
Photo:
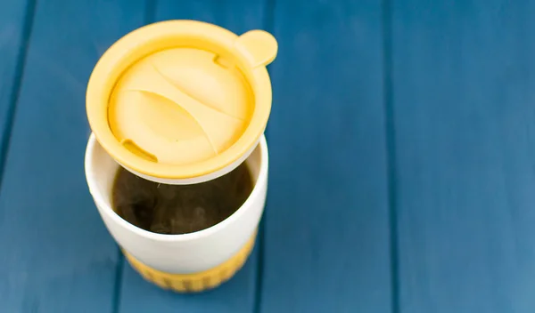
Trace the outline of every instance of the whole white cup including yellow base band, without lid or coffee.
{"label": "whole white cup including yellow base band, without lid or coffee", "polygon": [[130,264],[147,280],[178,292],[213,288],[232,277],[251,253],[268,185],[268,146],[264,136],[246,159],[253,189],[226,220],[183,235],[163,235],[123,220],[112,208],[119,165],[91,135],[86,148],[86,180],[111,236]]}

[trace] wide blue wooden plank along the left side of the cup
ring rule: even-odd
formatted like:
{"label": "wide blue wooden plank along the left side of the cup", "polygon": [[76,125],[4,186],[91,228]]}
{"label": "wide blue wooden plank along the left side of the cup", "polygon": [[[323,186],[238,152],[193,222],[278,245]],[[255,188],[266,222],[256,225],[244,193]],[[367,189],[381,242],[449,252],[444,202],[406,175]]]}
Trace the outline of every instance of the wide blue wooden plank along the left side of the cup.
{"label": "wide blue wooden plank along the left side of the cup", "polygon": [[86,186],[86,81],[142,1],[38,1],[0,190],[6,312],[110,312],[118,249]]}

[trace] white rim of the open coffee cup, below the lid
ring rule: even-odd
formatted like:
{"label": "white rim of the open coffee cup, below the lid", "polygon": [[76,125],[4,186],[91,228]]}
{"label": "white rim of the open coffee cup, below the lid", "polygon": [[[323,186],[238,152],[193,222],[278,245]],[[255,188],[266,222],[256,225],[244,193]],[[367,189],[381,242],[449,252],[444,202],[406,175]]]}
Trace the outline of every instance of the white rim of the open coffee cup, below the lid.
{"label": "white rim of the open coffee cup, below the lid", "polygon": [[[86,181],[87,181],[87,186],[89,188],[89,192],[91,193],[91,196],[93,197],[95,201],[95,204],[99,206],[100,208],[99,211],[107,214],[111,218],[111,220],[113,220],[123,229],[128,229],[129,231],[134,232],[138,236],[156,240],[156,241],[161,241],[161,242],[192,241],[192,240],[202,239],[204,237],[210,237],[211,235],[217,233],[221,229],[225,229],[226,227],[229,227],[231,224],[235,223],[235,221],[239,220],[240,217],[245,213],[245,211],[251,208],[251,205],[253,201],[255,201],[256,198],[261,197],[260,195],[261,190],[259,187],[259,185],[261,184],[261,181],[266,181],[264,183],[267,183],[268,181],[268,144],[266,142],[265,135],[262,134],[259,140],[259,144],[257,146],[257,148],[260,149],[259,151],[260,152],[260,167],[259,167],[258,178],[255,181],[254,187],[251,191],[251,195],[247,197],[243,205],[240,206],[235,211],[235,213],[232,213],[225,220],[218,222],[216,225],[211,226],[208,229],[202,229],[202,230],[194,231],[192,233],[177,234],[177,235],[153,233],[152,231],[141,229],[137,227],[136,225],[131,224],[128,221],[125,221],[123,218],[119,216],[118,213],[113,211],[113,209],[111,208],[111,205],[106,205],[103,199],[103,195],[99,192],[97,181],[93,178],[90,179],[91,175],[89,174],[89,173],[93,173],[94,168],[91,162],[91,157],[93,157],[95,148],[97,145],[100,145],[100,143],[98,140],[96,140],[95,133],[91,133],[89,140],[87,140],[84,167],[85,167]],[[101,146],[101,148],[103,147]],[[103,149],[103,152],[108,154],[105,149]],[[113,157],[111,157],[110,155],[108,155],[108,157],[110,157],[113,160],[113,162],[117,163],[117,161],[113,159]]]}

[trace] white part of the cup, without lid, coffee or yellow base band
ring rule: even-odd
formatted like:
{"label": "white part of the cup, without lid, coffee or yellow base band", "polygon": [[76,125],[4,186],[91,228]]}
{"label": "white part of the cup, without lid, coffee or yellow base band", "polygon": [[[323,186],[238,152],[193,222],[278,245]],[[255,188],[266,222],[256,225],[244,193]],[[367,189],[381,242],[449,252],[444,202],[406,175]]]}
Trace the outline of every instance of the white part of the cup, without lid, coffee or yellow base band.
{"label": "white part of the cup, without lid, coffee or yellow base band", "polygon": [[106,228],[137,261],[166,273],[189,274],[212,269],[238,253],[258,228],[268,188],[268,146],[262,135],[245,160],[254,188],[245,203],[225,221],[184,235],[162,235],[123,220],[111,207],[111,189],[119,164],[91,134],[86,148],[86,180]]}

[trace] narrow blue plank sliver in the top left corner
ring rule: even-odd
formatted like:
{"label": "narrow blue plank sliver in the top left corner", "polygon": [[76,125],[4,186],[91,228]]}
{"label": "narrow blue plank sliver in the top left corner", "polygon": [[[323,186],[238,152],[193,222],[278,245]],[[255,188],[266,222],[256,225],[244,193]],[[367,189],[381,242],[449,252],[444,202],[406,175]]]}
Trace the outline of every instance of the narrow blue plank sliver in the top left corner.
{"label": "narrow blue plank sliver in the top left corner", "polygon": [[33,2],[29,0],[6,0],[0,4],[0,182],[12,116],[19,96],[33,9]]}

